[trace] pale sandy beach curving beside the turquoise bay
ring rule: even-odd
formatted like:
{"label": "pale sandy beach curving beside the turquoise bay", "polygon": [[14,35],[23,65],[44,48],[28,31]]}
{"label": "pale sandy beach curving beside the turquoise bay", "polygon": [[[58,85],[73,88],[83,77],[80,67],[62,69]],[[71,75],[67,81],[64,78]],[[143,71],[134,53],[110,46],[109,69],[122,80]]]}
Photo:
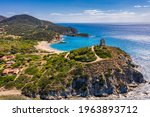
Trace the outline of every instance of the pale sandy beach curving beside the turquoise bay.
{"label": "pale sandy beach curving beside the turquoise bay", "polygon": [[47,51],[50,53],[57,53],[57,54],[64,52],[64,51],[52,48],[50,46],[51,44],[52,43],[48,43],[47,41],[41,41],[41,42],[38,42],[38,45],[35,46],[35,48],[38,50]]}

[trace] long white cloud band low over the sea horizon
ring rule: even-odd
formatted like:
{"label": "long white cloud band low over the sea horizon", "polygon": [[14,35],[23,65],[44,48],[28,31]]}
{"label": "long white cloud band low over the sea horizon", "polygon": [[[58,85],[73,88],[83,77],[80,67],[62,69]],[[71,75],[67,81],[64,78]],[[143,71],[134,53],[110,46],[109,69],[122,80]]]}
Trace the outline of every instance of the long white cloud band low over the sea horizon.
{"label": "long white cloud band low over the sea horizon", "polygon": [[51,13],[49,20],[50,19],[53,22],[79,22],[79,23],[149,22],[150,13],[149,12],[140,13],[123,10],[86,9],[76,13]]}

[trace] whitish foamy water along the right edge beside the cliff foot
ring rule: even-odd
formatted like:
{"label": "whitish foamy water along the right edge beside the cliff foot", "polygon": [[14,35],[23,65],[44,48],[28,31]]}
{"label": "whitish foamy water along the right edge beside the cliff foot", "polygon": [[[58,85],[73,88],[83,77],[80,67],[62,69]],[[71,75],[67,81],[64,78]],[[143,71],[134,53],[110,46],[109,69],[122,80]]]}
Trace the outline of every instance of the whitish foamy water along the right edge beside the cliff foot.
{"label": "whitish foamy water along the right edge beside the cliff foot", "polygon": [[[133,52],[136,52],[136,55],[132,57],[134,62],[140,65],[144,78],[150,82],[150,50],[140,49],[133,50]],[[125,97],[121,96],[119,99],[150,99],[150,84],[141,84],[133,91],[128,92]]]}

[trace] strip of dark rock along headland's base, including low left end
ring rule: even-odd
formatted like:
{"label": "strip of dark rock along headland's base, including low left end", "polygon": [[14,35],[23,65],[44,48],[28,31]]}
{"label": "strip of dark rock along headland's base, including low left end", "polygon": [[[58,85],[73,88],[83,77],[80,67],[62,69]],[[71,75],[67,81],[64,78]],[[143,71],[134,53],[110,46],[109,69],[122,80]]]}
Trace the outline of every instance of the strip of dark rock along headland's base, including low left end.
{"label": "strip of dark rock along headland's base, including low left end", "polygon": [[[124,69],[126,71],[126,69]],[[129,69],[128,69],[129,71]],[[89,96],[108,96],[110,94],[123,94],[130,91],[130,84],[144,83],[145,80],[141,73],[131,70],[127,74],[122,74],[115,70],[110,76],[102,77],[94,75],[89,78],[78,76],[74,78],[70,87],[66,90],[49,91],[49,93],[40,94],[41,99],[65,99],[69,97],[89,97]]]}

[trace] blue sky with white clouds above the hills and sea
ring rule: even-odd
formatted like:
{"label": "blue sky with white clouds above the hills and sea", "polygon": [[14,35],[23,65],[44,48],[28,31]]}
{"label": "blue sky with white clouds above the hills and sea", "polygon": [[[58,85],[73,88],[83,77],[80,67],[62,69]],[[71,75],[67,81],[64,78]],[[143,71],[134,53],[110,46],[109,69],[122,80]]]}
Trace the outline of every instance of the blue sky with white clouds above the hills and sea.
{"label": "blue sky with white clouds above the hills and sea", "polygon": [[0,15],[53,22],[150,22],[150,0],[0,0]]}

